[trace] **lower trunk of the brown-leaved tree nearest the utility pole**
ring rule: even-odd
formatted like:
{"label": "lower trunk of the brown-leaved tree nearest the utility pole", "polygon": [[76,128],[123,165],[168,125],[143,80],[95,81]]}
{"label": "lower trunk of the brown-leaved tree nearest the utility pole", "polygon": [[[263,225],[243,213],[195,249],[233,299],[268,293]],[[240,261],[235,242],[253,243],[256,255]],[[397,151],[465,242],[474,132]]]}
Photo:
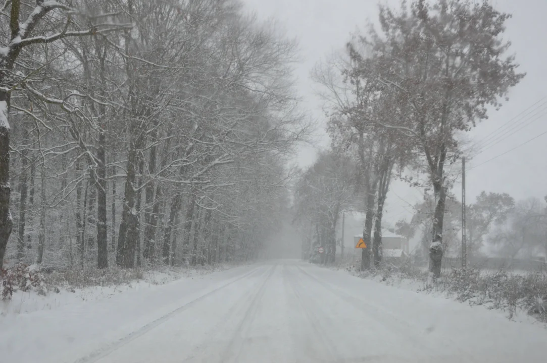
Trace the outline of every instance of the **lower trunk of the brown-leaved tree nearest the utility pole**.
{"label": "lower trunk of the brown-leaved tree nearest the utility pole", "polygon": [[435,192],[435,213],[433,216],[433,241],[429,246],[429,273],[433,278],[441,276],[441,265],[443,261],[443,219],[445,210],[446,191],[440,182],[433,183]]}

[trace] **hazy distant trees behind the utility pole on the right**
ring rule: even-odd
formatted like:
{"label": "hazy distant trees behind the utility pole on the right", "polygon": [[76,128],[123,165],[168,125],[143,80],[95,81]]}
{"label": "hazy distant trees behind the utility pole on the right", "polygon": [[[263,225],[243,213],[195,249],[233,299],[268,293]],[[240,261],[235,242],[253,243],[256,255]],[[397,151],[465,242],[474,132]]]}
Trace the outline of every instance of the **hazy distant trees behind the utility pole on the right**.
{"label": "hazy distant trees behind the utility pole on the right", "polygon": [[[418,255],[427,254],[434,214],[432,196],[426,195],[414,211],[410,222],[395,223],[395,231],[408,239],[420,237]],[[481,192],[475,203],[467,206],[466,221],[470,258],[481,257],[483,247],[509,260],[547,255],[547,205],[538,198],[515,201],[507,193]],[[461,203],[449,198],[443,248],[457,257],[461,256],[461,227]]]}

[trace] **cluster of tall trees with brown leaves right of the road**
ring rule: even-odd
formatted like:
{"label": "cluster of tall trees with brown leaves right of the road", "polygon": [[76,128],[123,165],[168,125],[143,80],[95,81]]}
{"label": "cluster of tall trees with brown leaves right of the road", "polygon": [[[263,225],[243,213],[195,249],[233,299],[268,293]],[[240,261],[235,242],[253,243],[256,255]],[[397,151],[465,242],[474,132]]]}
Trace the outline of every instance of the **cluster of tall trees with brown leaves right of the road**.
{"label": "cluster of tall trees with brown leaves right of the road", "polygon": [[[314,73],[323,86],[332,152],[356,164],[366,245],[378,237],[373,224],[381,226],[393,177],[433,190],[428,255],[434,277],[453,182],[447,166],[460,157],[462,135],[487,118],[489,107],[499,108],[524,76],[514,56],[505,55],[509,17],[486,0],[403,1],[399,10],[381,5],[379,27],[370,25]],[[319,219],[311,213],[309,219]],[[376,264],[380,241],[373,244]],[[363,268],[369,253],[363,249]]]}

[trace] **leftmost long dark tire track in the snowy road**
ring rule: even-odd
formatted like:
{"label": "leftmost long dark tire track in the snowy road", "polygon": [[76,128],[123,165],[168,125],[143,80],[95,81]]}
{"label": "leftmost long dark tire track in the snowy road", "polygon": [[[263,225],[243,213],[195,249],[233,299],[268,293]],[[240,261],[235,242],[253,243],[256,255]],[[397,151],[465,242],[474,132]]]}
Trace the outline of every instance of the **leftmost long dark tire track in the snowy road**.
{"label": "leftmost long dark tire track in the snowy road", "polygon": [[114,352],[115,350],[125,346],[125,344],[135,340],[136,338],[138,338],[138,337],[146,334],[150,330],[156,328],[156,326],[159,326],[162,323],[165,323],[168,319],[172,318],[174,315],[176,315],[180,312],[183,312],[184,310],[187,310],[188,308],[194,306],[197,302],[199,302],[203,299],[206,299],[207,297],[209,297],[209,296],[217,293],[218,291],[220,291],[220,290],[222,290],[222,289],[224,289],[224,288],[226,288],[226,287],[240,281],[241,279],[244,279],[246,277],[250,277],[250,276],[254,275],[259,270],[260,270],[260,267],[257,267],[254,270],[249,271],[247,273],[244,273],[243,275],[241,275],[241,276],[239,276],[235,279],[232,279],[230,282],[225,283],[225,284],[217,287],[216,289],[214,289],[212,291],[209,291],[208,293],[205,293],[205,294],[197,297],[194,300],[186,302],[185,304],[179,306],[178,308],[171,311],[170,313],[167,313],[164,316],[153,320],[152,322],[142,326],[142,328],[139,328],[135,331],[132,331],[130,334],[127,334],[125,337],[120,338],[119,340],[117,340],[113,343],[110,343],[110,344],[108,344],[107,346],[105,346],[103,348],[97,349],[94,352],[91,352],[90,354],[83,356],[82,358],[76,360],[74,363],[94,363],[94,362],[106,357],[107,355]]}

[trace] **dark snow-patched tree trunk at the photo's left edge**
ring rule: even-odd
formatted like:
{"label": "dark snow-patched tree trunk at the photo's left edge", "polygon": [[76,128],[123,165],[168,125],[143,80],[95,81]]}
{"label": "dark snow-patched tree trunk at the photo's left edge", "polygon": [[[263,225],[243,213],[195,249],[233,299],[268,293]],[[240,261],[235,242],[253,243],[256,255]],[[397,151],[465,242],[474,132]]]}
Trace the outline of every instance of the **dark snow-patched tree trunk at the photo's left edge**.
{"label": "dark snow-patched tree trunk at the photo's left edge", "polygon": [[13,228],[9,212],[11,187],[9,184],[9,94],[0,91],[0,267],[4,263],[5,249]]}

